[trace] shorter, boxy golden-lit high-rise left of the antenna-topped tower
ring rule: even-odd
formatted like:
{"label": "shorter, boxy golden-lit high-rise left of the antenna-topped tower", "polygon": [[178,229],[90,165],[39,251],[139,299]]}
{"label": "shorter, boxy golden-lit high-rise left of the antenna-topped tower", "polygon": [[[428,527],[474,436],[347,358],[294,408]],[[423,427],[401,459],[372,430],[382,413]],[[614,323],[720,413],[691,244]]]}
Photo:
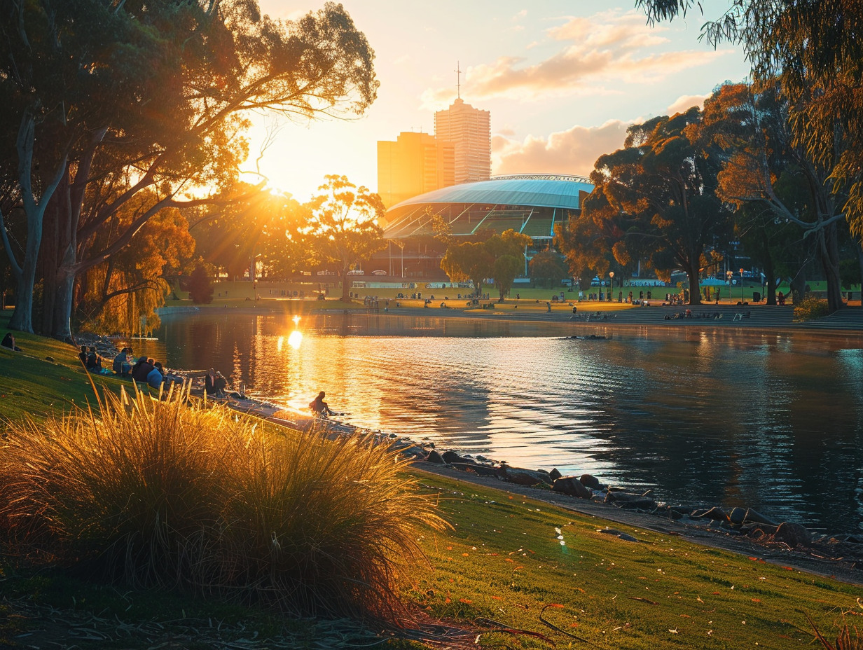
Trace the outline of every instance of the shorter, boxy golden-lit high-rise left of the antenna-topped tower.
{"label": "shorter, boxy golden-lit high-rise left of the antenna-topped tower", "polygon": [[455,184],[455,147],[427,133],[378,141],[378,194],[388,207]]}

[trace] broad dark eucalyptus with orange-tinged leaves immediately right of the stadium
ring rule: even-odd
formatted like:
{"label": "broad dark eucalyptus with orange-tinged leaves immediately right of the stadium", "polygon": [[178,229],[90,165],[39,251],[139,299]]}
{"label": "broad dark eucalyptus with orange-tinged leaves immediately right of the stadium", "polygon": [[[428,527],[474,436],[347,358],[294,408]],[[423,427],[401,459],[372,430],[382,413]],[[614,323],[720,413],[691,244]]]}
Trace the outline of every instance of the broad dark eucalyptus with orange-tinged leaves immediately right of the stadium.
{"label": "broad dark eucalyptus with orange-tinged leaves immediately right of the stadium", "polygon": [[[610,251],[620,264],[644,259],[660,277],[677,268],[689,278],[690,304],[701,304],[699,278],[709,266],[709,247],[730,232],[731,209],[715,194],[721,158],[697,141],[701,111],[654,117],[627,129],[624,148],[599,157],[581,218],[558,240],[593,237],[593,268],[602,271]],[[582,250],[582,260],[587,262]]]}

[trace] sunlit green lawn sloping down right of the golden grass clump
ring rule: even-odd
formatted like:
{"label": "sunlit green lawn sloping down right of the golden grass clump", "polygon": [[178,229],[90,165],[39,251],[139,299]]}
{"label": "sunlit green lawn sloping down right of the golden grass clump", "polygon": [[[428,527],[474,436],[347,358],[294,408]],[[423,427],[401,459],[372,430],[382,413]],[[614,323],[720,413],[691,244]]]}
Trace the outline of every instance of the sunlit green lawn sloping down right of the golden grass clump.
{"label": "sunlit green lawn sloping down right of the golden grass clump", "polygon": [[[576,641],[541,618],[597,647],[736,650],[810,645],[806,613],[834,636],[844,612],[851,623],[863,615],[857,586],[472,483],[420,480],[440,492],[455,526],[425,533],[434,570],[417,571],[409,591],[438,617],[491,619],[561,647]],[[597,533],[605,526],[639,542]],[[548,647],[513,634],[482,634],[482,643]]]}

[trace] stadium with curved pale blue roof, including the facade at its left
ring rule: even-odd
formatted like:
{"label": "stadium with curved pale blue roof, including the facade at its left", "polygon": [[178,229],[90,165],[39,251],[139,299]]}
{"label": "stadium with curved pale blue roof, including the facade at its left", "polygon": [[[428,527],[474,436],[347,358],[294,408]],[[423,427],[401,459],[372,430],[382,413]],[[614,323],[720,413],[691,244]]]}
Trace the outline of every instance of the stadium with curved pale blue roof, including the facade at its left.
{"label": "stadium with curved pale blue roof, including the facade at its left", "polygon": [[387,275],[439,278],[444,244],[438,242],[432,218],[439,216],[452,237],[501,233],[513,229],[533,240],[526,259],[545,249],[557,224],[565,224],[581,211],[593,185],[582,176],[515,174],[444,187],[393,205],[386,212],[387,249],[371,264]]}

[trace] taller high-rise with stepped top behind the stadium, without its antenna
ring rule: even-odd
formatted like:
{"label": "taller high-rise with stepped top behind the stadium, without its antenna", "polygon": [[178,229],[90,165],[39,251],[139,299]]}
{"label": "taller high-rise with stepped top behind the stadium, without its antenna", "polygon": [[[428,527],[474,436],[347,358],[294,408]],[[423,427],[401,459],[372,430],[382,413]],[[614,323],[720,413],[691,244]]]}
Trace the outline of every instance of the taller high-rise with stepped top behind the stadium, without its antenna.
{"label": "taller high-rise with stepped top behind the stadium, without its antenna", "polygon": [[450,108],[434,114],[438,142],[456,148],[456,185],[491,176],[491,114],[457,98]]}

